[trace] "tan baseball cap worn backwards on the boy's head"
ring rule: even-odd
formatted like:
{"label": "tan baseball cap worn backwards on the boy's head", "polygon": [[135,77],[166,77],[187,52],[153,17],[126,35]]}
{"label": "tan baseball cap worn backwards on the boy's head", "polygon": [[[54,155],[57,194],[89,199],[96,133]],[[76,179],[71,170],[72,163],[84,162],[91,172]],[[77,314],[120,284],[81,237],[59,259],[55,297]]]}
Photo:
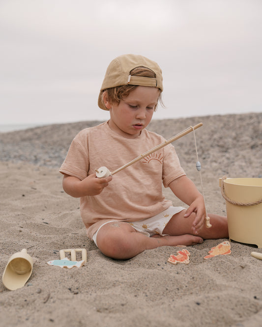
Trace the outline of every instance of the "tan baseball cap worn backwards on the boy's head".
{"label": "tan baseball cap worn backwards on the boy's head", "polygon": [[[130,71],[137,67],[146,67],[155,73],[155,78],[131,76]],[[123,54],[111,61],[102,83],[98,106],[101,109],[108,110],[102,101],[102,92],[111,87],[121,85],[141,85],[154,86],[163,91],[162,70],[155,61],[152,61],[140,54]]]}

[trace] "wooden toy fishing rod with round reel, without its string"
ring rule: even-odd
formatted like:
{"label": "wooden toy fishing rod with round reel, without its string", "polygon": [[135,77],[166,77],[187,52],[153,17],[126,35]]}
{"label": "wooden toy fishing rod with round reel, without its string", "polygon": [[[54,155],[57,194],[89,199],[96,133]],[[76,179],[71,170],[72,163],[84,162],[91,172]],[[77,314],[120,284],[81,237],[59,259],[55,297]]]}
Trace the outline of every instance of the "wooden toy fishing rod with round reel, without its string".
{"label": "wooden toy fishing rod with round reel, without its string", "polygon": [[96,177],[99,177],[99,178],[102,178],[102,177],[107,177],[107,176],[110,176],[110,175],[115,175],[117,172],[123,170],[124,168],[126,167],[129,167],[131,166],[131,164],[135,164],[137,163],[138,161],[140,161],[141,159],[145,158],[146,156],[150,155],[151,153],[163,148],[164,146],[168,145],[169,143],[172,143],[174,142],[175,140],[177,140],[178,138],[182,137],[182,136],[185,136],[186,134],[196,130],[197,128],[201,127],[203,125],[203,123],[199,123],[195,126],[190,126],[189,128],[187,128],[186,130],[184,130],[183,132],[180,132],[178,134],[176,134],[175,136],[169,138],[168,140],[166,140],[165,142],[155,146],[154,148],[152,148],[151,150],[148,150],[146,151],[145,153],[141,154],[139,157],[135,158],[134,160],[130,161],[129,163],[127,164],[124,164],[123,166],[117,168],[116,170],[110,172],[110,170],[105,167],[105,166],[102,166],[100,167],[99,169],[95,169],[96,171]]}

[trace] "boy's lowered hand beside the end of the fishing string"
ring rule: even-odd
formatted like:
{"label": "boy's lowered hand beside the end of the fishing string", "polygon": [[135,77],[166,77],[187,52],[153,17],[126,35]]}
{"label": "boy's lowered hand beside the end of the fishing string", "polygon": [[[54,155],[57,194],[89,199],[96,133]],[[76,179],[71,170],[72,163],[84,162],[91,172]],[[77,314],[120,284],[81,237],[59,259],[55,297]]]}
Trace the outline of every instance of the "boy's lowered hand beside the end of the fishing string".
{"label": "boy's lowered hand beside the end of the fishing string", "polygon": [[192,213],[196,214],[196,218],[193,221],[193,232],[198,234],[199,230],[204,225],[204,218],[206,217],[205,207],[204,207],[204,199],[202,196],[197,197],[186,210],[184,215],[185,218],[189,217]]}

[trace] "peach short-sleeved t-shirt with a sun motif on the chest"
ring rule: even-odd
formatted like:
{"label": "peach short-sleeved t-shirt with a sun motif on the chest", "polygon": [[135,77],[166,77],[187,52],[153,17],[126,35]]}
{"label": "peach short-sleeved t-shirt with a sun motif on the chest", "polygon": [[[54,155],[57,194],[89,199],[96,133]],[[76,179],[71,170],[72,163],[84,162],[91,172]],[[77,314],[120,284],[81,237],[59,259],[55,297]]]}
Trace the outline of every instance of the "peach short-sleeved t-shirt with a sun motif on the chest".
{"label": "peach short-sleeved t-shirt with a sun motif on the chest", "polygon": [[[101,166],[114,171],[164,141],[146,129],[136,138],[125,138],[105,122],[84,129],[73,139],[59,171],[83,180]],[[137,221],[164,211],[172,202],[162,193],[162,181],[168,187],[183,175],[172,144],[116,173],[99,195],[80,198],[87,236],[92,239],[97,229],[112,219]]]}

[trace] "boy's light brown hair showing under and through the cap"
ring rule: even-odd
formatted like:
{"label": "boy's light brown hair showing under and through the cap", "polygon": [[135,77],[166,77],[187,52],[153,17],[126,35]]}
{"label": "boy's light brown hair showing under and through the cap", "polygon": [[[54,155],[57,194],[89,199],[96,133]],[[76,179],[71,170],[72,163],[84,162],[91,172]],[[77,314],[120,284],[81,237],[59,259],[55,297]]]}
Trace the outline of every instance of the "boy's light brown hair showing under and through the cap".
{"label": "boy's light brown hair showing under and through the cap", "polygon": [[[136,67],[131,70],[130,75],[155,78],[155,73],[151,69],[146,68],[146,67]],[[112,104],[113,103],[119,104],[121,100],[128,97],[128,95],[132,91],[134,91],[137,87],[138,87],[138,85],[121,85],[121,86],[107,88],[101,94],[102,101],[104,102],[104,100],[103,100],[104,92],[107,92],[109,102]],[[160,89],[159,89],[159,96],[158,96],[157,101],[160,102],[161,105],[164,107]],[[156,108],[157,108],[157,105],[155,106],[154,110],[156,110]]]}

